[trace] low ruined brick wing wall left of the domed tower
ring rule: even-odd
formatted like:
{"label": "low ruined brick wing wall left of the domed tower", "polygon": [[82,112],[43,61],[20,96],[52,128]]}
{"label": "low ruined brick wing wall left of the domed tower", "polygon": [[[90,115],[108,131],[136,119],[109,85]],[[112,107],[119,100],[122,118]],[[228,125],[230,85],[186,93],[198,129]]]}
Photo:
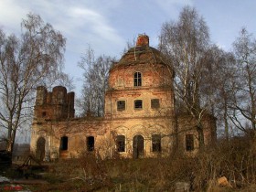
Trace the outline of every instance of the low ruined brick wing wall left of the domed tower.
{"label": "low ruined brick wing wall left of the domed tower", "polygon": [[[101,148],[99,138],[105,138],[109,123],[101,120],[72,120],[72,121],[48,121],[37,122],[32,125],[31,152],[37,155],[37,141],[44,138],[45,159],[71,158],[87,152],[87,137],[95,139],[95,151]],[[61,137],[67,137],[67,149],[61,150]],[[104,152],[106,153],[106,152]]]}

